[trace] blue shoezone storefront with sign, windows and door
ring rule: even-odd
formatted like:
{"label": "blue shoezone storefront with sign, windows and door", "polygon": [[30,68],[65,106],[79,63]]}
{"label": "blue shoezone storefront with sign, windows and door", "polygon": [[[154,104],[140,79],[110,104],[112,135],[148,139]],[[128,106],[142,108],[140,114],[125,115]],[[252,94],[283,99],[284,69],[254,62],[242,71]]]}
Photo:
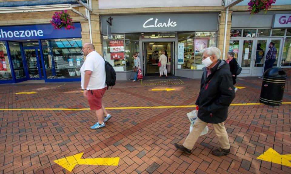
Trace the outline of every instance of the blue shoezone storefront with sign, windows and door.
{"label": "blue shoezone storefront with sign, windows and door", "polygon": [[0,83],[25,80],[80,81],[81,24],[55,30],[51,24],[0,27]]}

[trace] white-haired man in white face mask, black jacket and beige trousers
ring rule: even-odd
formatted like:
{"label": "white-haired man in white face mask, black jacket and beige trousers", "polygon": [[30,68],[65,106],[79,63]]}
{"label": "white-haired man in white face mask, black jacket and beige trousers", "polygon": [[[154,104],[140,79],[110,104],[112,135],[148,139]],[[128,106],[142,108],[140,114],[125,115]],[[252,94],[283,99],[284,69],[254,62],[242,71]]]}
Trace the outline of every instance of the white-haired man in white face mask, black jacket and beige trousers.
{"label": "white-haired man in white face mask, black jacket and beige trousers", "polygon": [[232,85],[232,75],[229,64],[220,60],[220,50],[209,47],[202,51],[203,74],[196,105],[199,106],[198,118],[192,131],[183,144],[175,143],[178,150],[190,154],[199,135],[208,123],[212,123],[215,134],[218,137],[220,147],[212,151],[215,156],[223,156],[230,153],[230,144],[224,121],[227,118],[228,107],[235,97]]}

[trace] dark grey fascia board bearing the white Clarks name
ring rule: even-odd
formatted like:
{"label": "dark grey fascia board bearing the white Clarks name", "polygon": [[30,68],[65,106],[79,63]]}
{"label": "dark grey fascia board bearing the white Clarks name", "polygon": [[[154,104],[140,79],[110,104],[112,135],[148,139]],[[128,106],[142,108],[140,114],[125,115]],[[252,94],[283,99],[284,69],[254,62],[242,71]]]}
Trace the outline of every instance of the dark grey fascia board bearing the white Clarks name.
{"label": "dark grey fascia board bearing the white Clarks name", "polygon": [[101,33],[107,33],[111,17],[112,33],[168,31],[217,31],[218,13],[129,14],[101,16]]}

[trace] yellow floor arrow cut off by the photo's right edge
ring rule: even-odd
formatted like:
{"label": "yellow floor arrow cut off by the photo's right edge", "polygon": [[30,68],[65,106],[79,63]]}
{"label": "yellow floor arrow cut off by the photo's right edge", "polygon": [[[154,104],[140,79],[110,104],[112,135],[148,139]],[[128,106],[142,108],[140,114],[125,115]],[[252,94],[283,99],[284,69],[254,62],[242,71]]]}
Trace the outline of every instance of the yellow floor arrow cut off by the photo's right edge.
{"label": "yellow floor arrow cut off by the photo's right edge", "polygon": [[280,155],[272,148],[269,148],[262,155],[258,156],[257,159],[291,167],[291,154]]}

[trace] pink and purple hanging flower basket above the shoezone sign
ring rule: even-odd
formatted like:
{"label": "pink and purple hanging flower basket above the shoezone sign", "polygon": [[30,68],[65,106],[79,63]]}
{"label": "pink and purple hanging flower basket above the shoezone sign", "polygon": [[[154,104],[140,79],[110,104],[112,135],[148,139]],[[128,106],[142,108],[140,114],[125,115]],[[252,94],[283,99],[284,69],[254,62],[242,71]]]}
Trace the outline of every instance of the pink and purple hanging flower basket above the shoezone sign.
{"label": "pink and purple hanging flower basket above the shoezone sign", "polygon": [[72,24],[72,18],[68,14],[68,10],[55,12],[50,22],[54,29],[62,29],[62,27],[65,27],[66,30],[70,30],[75,28]]}

